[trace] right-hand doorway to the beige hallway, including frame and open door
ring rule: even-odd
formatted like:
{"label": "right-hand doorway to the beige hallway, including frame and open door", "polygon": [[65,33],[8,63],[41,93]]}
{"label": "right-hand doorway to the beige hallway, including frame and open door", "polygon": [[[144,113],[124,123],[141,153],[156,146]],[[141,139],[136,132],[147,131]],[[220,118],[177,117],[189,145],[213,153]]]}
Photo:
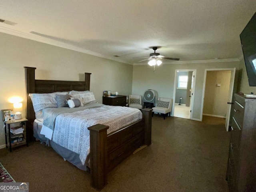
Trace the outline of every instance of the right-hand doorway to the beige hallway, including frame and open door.
{"label": "right-hand doorway to the beige hallway, including frame and open door", "polygon": [[206,69],[201,107],[203,115],[225,118],[228,131],[236,68]]}

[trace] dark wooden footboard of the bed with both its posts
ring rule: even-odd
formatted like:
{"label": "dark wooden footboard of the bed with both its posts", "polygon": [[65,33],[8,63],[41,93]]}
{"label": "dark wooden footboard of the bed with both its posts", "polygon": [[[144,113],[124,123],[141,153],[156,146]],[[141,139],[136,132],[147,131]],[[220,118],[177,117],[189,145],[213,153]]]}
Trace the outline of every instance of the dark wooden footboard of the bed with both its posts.
{"label": "dark wooden footboard of the bed with both its posts", "polygon": [[142,120],[107,136],[108,126],[97,124],[90,130],[90,184],[101,190],[107,184],[107,173],[136,148],[151,144],[152,109],[142,109]]}

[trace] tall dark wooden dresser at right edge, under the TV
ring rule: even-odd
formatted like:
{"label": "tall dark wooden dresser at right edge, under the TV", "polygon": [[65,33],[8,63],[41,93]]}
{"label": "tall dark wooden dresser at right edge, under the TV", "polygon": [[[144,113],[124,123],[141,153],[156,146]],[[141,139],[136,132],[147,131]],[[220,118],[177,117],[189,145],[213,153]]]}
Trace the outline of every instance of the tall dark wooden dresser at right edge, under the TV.
{"label": "tall dark wooden dresser at right edge, under the TV", "polygon": [[234,95],[226,180],[230,192],[256,191],[256,98]]}

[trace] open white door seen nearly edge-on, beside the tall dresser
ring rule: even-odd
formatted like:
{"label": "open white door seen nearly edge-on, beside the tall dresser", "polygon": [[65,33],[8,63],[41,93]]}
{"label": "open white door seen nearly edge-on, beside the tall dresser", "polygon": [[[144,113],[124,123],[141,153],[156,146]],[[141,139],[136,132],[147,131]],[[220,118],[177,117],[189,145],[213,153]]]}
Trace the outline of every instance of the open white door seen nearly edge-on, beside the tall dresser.
{"label": "open white door seen nearly edge-on, beside the tall dresser", "polygon": [[235,74],[236,74],[236,68],[231,70],[230,86],[229,86],[228,101],[227,101],[226,122],[225,122],[226,131],[228,131],[230,112],[231,112],[231,104],[228,104],[228,102],[232,103],[232,96],[234,94],[233,91],[234,91]]}

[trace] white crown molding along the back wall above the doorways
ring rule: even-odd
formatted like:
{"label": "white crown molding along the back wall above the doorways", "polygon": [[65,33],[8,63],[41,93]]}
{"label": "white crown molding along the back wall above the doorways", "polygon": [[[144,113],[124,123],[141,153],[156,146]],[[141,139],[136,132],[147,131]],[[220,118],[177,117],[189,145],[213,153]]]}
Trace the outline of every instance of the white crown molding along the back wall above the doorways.
{"label": "white crown molding along the back wall above the doorways", "polygon": [[[210,59],[210,60],[194,60],[194,61],[171,61],[163,62],[163,64],[197,64],[197,63],[219,63],[219,62],[237,62],[238,58],[230,59]],[[148,63],[134,63],[133,65],[147,65]]]}

